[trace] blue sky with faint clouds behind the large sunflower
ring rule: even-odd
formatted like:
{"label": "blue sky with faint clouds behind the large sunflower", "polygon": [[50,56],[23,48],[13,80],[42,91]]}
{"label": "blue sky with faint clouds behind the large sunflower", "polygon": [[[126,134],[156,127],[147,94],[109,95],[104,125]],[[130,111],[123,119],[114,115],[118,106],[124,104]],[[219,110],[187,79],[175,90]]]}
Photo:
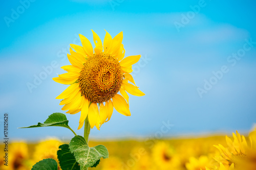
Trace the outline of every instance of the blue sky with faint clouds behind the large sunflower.
{"label": "blue sky with faint clouds behind the large sunflower", "polygon": [[[102,40],[104,29],[112,37],[123,31],[125,56],[142,55],[133,76],[146,94],[130,95],[132,116],[114,111],[100,131],[91,131],[92,137],[154,136],[165,123],[172,124],[166,136],[248,132],[256,122],[255,5],[209,0],[5,1],[0,7],[0,109],[2,115],[9,113],[10,136],[72,137],[59,127],[16,128],[64,113],[55,98],[67,86],[52,78],[65,72],[60,67],[69,65],[69,44],[80,44],[78,34],[93,42],[91,29]],[[35,84],[40,76],[44,80]],[[28,83],[36,88],[29,89]],[[67,114],[73,129],[79,116]]]}

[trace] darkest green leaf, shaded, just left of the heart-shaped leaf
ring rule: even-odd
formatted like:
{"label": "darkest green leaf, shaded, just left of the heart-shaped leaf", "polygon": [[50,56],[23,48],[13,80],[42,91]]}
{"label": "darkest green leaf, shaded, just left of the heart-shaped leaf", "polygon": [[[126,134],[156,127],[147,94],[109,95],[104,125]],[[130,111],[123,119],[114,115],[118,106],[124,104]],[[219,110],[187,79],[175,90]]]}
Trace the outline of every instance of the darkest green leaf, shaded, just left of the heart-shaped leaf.
{"label": "darkest green leaf, shaded, just left of the heart-shaped leaf", "polygon": [[62,170],[75,170],[80,169],[74,154],[71,153],[68,144],[62,144],[57,151],[59,165]]}

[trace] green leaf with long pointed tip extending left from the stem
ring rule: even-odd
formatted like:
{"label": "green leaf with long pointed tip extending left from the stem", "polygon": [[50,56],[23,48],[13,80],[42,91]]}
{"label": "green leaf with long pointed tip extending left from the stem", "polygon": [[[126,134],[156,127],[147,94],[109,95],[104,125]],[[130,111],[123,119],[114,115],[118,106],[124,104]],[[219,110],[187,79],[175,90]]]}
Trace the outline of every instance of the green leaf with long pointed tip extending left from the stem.
{"label": "green leaf with long pointed tip extending left from the stem", "polygon": [[53,113],[51,114],[48,119],[42,123],[38,123],[37,125],[32,125],[29,127],[23,127],[23,128],[38,128],[38,127],[48,127],[48,126],[59,126],[59,127],[65,127],[70,129],[75,135],[76,133],[69,127],[68,125],[69,120],[67,119],[66,115],[63,113]]}

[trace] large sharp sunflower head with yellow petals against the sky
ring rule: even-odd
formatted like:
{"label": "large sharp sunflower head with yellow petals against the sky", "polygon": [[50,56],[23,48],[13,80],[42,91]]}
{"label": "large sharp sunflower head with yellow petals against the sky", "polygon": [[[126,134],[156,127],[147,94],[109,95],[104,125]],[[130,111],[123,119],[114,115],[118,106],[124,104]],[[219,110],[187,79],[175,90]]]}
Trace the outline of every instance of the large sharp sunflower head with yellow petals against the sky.
{"label": "large sharp sunflower head with yellow petals against the sky", "polygon": [[130,74],[132,65],[139,61],[141,55],[124,58],[123,33],[112,39],[106,32],[102,45],[99,36],[92,32],[94,52],[91,42],[79,34],[82,46],[70,44],[73,49],[70,47],[68,59],[72,65],[61,67],[68,72],[53,78],[57,83],[70,85],[56,99],[63,99],[60,105],[64,105],[62,110],[68,110],[66,113],[81,111],[78,129],[87,116],[91,128],[96,126],[99,129],[110,120],[113,108],[130,116],[127,92],[136,96],[145,95]]}

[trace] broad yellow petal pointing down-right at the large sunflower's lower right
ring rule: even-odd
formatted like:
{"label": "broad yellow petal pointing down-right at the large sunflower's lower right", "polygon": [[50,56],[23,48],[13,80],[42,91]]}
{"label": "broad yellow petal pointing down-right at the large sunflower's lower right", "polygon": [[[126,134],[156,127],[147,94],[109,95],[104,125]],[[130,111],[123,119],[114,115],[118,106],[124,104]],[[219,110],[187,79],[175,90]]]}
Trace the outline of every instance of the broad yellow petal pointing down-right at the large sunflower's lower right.
{"label": "broad yellow petal pointing down-right at the large sunflower's lower right", "polygon": [[126,103],[121,95],[116,94],[112,99],[113,106],[115,107],[116,111],[125,116],[131,116],[129,105]]}

